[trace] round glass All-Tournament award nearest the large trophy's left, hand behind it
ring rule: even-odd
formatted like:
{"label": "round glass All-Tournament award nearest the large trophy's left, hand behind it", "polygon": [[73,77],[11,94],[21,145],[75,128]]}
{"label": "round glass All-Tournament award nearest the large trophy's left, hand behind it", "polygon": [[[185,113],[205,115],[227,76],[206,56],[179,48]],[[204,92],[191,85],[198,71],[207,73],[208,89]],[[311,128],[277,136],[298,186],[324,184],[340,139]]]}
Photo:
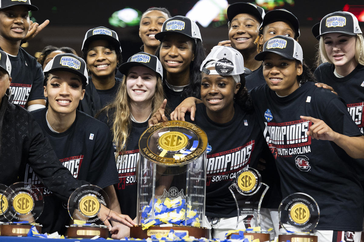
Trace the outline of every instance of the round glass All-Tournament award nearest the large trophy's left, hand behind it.
{"label": "round glass All-Tournament award nearest the large trophy's left, hand behind it", "polygon": [[[105,217],[100,216],[101,209],[106,209]],[[102,223],[110,213],[110,200],[102,188],[95,185],[77,188],[68,200],[68,213],[74,221],[67,229],[68,238],[108,237],[107,226]]]}

